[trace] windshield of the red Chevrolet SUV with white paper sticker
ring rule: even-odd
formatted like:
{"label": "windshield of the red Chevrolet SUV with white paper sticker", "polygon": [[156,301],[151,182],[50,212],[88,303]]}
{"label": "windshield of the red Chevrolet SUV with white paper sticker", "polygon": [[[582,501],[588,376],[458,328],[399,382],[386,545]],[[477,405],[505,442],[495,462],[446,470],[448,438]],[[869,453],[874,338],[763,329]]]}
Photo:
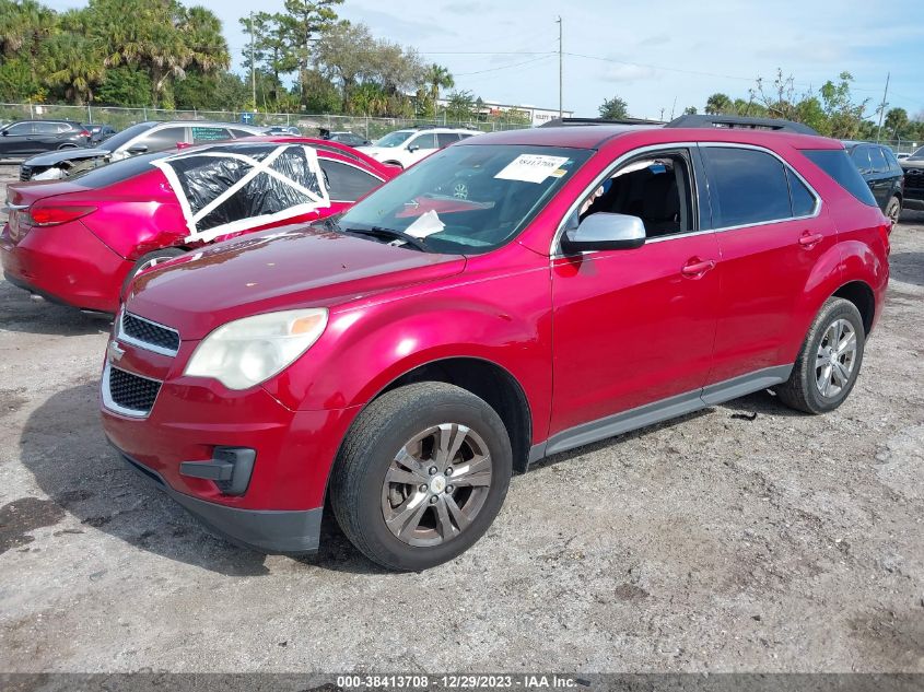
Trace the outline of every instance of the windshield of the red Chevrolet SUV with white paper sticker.
{"label": "windshield of the red Chevrolet SUV with white paper sticker", "polygon": [[477,255],[512,239],[593,152],[512,144],[445,149],[350,209],[340,228],[399,232],[434,253]]}

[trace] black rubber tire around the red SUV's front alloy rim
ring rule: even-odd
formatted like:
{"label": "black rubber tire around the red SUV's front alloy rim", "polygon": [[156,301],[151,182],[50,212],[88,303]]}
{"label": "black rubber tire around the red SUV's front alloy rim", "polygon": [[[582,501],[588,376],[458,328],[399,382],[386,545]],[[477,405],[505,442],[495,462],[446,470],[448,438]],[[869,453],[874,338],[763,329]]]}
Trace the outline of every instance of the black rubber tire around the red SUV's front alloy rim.
{"label": "black rubber tire around the red SUV's front alloy rim", "polygon": [[[491,457],[487,497],[457,536],[438,544],[411,546],[386,525],[386,473],[409,439],[445,423],[468,426],[487,445]],[[370,560],[389,570],[420,572],[458,556],[488,530],[506,496],[512,461],[507,431],[483,400],[444,383],[407,385],[373,401],[353,423],[331,471],[330,502],[343,533]]]}

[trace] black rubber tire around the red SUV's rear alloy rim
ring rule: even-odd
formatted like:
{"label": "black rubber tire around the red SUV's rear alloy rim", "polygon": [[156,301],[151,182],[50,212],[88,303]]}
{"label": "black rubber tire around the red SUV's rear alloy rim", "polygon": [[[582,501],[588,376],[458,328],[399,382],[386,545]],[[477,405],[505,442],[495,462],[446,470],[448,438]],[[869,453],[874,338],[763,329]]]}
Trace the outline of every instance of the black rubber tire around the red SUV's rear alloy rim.
{"label": "black rubber tire around the red SUV's rear alloy rim", "polygon": [[[842,319],[853,327],[856,351],[846,384],[841,386],[837,394],[824,396],[818,385],[816,362],[819,357],[819,349],[823,348],[829,328]],[[790,379],[774,388],[780,400],[790,408],[806,413],[827,413],[837,409],[844,402],[856,384],[861,365],[863,365],[865,342],[866,330],[856,306],[844,298],[828,298],[808,330],[808,336],[805,338]]]}

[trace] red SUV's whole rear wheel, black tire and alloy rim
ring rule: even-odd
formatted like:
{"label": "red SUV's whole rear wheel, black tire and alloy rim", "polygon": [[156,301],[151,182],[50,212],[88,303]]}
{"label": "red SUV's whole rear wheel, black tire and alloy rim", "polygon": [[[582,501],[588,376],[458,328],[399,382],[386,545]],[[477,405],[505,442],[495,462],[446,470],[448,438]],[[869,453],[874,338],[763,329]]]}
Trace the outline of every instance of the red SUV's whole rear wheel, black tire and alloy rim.
{"label": "red SUV's whole rear wheel, black tire and alloy rim", "polygon": [[806,413],[827,413],[844,402],[856,384],[866,331],[859,310],[844,298],[828,298],[811,324],[780,399]]}

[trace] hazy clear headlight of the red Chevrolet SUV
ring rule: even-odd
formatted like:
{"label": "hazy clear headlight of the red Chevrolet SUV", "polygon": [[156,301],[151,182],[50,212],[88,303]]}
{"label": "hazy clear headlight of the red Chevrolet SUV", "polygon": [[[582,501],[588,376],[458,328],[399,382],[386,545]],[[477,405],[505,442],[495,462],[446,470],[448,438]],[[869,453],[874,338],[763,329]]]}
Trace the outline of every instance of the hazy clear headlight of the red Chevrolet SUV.
{"label": "hazy clear headlight of the red Chevrolet SUV", "polygon": [[213,377],[229,389],[247,389],[291,365],[318,340],[326,326],[325,308],[236,319],[196,347],[184,374]]}

